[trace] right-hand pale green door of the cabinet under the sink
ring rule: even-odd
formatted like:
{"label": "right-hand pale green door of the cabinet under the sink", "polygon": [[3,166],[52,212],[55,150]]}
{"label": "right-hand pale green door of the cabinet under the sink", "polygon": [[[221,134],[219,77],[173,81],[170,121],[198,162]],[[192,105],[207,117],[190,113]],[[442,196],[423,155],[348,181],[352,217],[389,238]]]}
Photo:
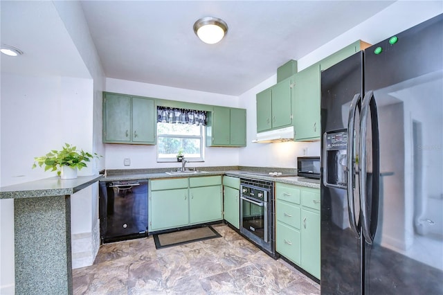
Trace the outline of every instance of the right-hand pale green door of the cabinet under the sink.
{"label": "right-hand pale green door of the cabinet under the sink", "polygon": [[223,219],[221,215],[221,186],[190,188],[189,193],[191,224]]}

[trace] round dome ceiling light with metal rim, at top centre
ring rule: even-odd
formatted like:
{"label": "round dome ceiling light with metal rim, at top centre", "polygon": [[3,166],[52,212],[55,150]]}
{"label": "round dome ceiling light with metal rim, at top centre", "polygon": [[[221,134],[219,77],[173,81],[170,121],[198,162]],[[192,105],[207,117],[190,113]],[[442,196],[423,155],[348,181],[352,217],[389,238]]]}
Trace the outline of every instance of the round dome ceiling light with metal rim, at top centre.
{"label": "round dome ceiling light with metal rim, at top centre", "polygon": [[207,44],[215,44],[223,39],[228,32],[228,25],[223,19],[217,17],[204,17],[194,24],[194,32],[201,41]]}

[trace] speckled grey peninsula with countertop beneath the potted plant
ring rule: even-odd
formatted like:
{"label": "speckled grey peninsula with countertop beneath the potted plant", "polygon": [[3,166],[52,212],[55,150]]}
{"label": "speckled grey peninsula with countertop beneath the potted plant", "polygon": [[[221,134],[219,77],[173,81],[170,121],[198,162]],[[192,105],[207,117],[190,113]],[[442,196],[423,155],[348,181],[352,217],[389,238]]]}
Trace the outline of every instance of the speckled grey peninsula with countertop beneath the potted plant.
{"label": "speckled grey peninsula with countertop beneath the potted plant", "polygon": [[71,195],[101,177],[0,188],[0,199],[14,199],[16,294],[72,294]]}

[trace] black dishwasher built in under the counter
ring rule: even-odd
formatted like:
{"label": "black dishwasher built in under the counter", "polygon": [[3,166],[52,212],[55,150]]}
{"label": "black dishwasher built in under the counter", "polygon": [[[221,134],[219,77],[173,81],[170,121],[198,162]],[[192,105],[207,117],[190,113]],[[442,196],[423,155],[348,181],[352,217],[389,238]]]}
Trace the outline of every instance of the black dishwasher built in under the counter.
{"label": "black dishwasher built in under the counter", "polygon": [[100,182],[102,243],[147,236],[147,180]]}

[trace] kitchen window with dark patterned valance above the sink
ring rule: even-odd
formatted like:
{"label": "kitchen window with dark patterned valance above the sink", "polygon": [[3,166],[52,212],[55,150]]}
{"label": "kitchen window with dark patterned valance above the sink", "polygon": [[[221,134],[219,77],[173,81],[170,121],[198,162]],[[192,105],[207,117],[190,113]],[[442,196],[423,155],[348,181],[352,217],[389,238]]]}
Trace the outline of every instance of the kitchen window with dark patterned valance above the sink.
{"label": "kitchen window with dark patterned valance above the sink", "polygon": [[[157,111],[157,162],[177,162],[180,151],[188,161],[204,161],[205,128],[201,120],[206,119],[206,114],[163,107],[158,107]],[[175,119],[174,114],[177,115]]]}

